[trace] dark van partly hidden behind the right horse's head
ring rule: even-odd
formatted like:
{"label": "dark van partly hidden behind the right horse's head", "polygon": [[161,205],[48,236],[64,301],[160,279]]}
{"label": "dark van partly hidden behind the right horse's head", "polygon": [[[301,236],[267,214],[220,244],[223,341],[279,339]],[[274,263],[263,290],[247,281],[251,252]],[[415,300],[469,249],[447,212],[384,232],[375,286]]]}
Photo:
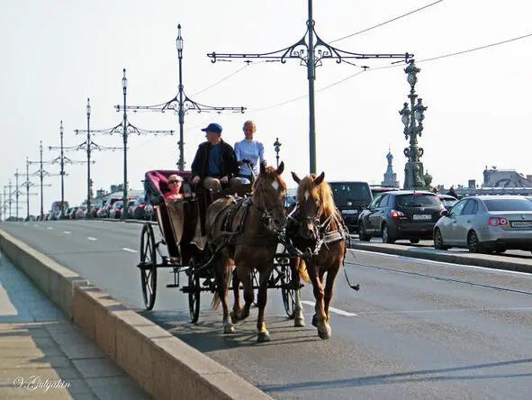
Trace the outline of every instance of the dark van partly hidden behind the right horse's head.
{"label": "dark van partly hidden behind the right horse's head", "polygon": [[329,182],[334,203],[344,217],[347,229],[358,232],[358,215],[367,207],[373,195],[367,182]]}

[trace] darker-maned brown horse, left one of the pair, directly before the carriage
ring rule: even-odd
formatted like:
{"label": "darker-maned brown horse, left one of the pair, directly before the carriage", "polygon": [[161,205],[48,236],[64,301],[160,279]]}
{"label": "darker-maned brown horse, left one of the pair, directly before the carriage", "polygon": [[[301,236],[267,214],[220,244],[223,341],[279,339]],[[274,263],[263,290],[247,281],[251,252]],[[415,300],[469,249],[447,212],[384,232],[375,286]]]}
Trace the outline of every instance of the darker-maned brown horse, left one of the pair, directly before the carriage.
{"label": "darker-maned brown horse, left one of the pair, directly before the carriage", "polygon": [[[253,269],[257,269],[257,341],[270,340],[266,330],[265,307],[278,238],[285,224],[283,197],[286,185],[281,178],[283,170],[284,163],[277,169],[261,165],[250,201],[247,199],[235,203],[234,200],[221,198],[207,209],[206,229],[208,241],[214,250],[212,268],[217,285],[213,307],[221,302],[224,333],[234,332],[232,323],[248,317],[254,301],[251,274]],[[227,292],[232,265],[236,267],[233,280],[236,287],[233,287],[235,304],[230,314]],[[239,281],[244,286],[244,308],[240,306]]]}

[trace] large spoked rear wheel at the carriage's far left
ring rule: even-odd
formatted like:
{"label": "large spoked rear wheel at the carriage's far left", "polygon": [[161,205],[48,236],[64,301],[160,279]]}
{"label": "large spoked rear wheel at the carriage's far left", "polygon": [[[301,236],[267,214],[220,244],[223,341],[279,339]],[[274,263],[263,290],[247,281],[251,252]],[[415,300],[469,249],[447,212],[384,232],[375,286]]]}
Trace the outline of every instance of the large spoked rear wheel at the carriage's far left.
{"label": "large spoked rear wheel at the carriage's far left", "polygon": [[144,224],[140,236],[140,282],[144,305],[147,310],[151,310],[155,305],[157,291],[157,249],[155,235],[149,223]]}

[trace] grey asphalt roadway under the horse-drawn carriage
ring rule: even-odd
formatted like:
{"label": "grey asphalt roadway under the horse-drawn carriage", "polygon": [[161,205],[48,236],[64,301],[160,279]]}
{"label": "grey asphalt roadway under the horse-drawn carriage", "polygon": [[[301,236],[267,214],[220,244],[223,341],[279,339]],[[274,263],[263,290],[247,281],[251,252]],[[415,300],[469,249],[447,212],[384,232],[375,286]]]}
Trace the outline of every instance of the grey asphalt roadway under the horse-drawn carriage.
{"label": "grey asphalt roadway under the horse-drawn carriage", "polygon": [[[77,271],[125,305],[142,308],[141,225],[65,221],[2,223],[0,229]],[[269,343],[255,342],[256,310],[232,335],[221,311],[202,296],[199,323],[188,321],[186,295],[164,287],[161,269],[152,312],[177,337],[275,398],[529,399],[532,397],[532,276],[352,250],[339,275],[332,338],[311,326],[313,300],[303,288],[305,328],[285,318],[280,292],[269,292]]]}

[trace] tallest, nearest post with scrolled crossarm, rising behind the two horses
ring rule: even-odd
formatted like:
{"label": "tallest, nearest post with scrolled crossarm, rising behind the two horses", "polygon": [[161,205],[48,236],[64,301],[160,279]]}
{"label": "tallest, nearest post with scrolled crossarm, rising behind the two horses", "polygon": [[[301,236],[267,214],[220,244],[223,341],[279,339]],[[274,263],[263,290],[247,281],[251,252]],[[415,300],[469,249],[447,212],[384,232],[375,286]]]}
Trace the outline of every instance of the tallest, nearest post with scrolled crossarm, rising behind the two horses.
{"label": "tallest, nearest post with scrolled crossarm, rising behind the two horses", "polygon": [[[286,59],[299,59],[302,65],[307,67],[307,79],[309,80],[309,153],[310,170],[316,173],[316,129],[314,113],[314,81],[316,80],[316,67],[321,65],[322,59],[336,59],[339,64],[342,61],[350,63],[347,59],[410,59],[413,54],[360,54],[345,50],[339,50],[320,39],[314,30],[314,20],[312,19],[312,0],[308,0],[308,20],[307,32],[300,41],[282,50],[270,51],[266,53],[208,53],[207,57],[216,62],[217,59],[250,59],[277,60],[284,63]],[[315,36],[315,42],[314,42]],[[368,67],[362,67],[368,68]]]}

